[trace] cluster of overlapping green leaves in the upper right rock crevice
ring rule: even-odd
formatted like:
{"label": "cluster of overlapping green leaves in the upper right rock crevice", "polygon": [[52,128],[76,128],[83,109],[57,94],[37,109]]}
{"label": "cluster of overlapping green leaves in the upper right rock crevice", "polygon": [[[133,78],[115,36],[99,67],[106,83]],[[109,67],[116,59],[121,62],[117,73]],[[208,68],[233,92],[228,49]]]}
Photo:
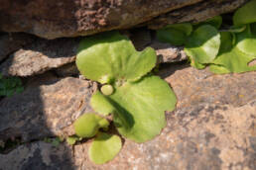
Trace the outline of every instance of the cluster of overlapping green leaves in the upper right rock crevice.
{"label": "cluster of overlapping green leaves in the upper right rock crevice", "polygon": [[256,0],[238,9],[233,26],[220,30],[222,18],[216,16],[199,24],[175,24],[157,31],[161,42],[185,45],[191,65],[213,73],[242,73],[256,70],[249,63],[256,59]]}

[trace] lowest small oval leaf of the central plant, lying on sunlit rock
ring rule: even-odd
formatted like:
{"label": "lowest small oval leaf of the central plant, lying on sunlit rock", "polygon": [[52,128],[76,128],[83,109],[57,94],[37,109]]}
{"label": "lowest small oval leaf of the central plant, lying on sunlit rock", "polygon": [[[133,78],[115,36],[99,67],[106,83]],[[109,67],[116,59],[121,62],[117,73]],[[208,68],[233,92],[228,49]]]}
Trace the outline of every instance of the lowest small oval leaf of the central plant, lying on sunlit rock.
{"label": "lowest small oval leaf of the central plant, lying on sunlit rock", "polygon": [[89,148],[89,158],[95,164],[103,164],[112,160],[121,147],[122,141],[118,135],[99,132]]}

